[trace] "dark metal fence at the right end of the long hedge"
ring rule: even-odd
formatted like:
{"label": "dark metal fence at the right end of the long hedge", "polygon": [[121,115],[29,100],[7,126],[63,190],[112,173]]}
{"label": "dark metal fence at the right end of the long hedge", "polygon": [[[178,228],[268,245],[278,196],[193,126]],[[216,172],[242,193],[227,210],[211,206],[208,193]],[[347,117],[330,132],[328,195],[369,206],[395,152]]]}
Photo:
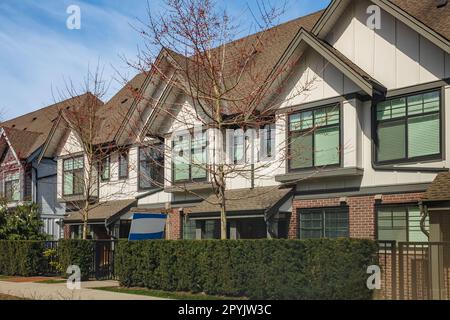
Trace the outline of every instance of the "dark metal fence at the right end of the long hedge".
{"label": "dark metal fence at the right end of the long hedge", "polygon": [[450,242],[379,242],[381,298],[450,299]]}

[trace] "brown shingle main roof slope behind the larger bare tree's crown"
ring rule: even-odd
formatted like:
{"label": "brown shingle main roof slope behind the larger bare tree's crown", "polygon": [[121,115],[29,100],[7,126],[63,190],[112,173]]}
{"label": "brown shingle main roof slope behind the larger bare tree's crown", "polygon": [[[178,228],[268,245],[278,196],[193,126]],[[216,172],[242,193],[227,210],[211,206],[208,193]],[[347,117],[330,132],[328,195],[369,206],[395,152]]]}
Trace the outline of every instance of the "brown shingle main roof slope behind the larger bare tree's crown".
{"label": "brown shingle main roof slope behind the larger bare tree's crown", "polygon": [[[269,77],[300,28],[310,31],[322,13],[323,10],[317,11],[209,50],[211,59],[216,60],[217,65],[222,65],[222,54],[225,52],[225,57],[223,58],[225,62],[222,66],[223,78],[227,87],[233,88],[223,97],[224,101],[228,100],[228,110],[224,112],[225,114],[239,114],[243,110],[248,111],[246,108],[253,102],[254,93],[261,89],[261,85],[265,83],[266,78]],[[226,50],[223,49],[224,47]],[[227,63],[227,61],[231,60],[249,58],[250,53],[255,49],[252,61],[247,64],[249,68],[243,73],[240,73],[240,68],[236,70],[238,67],[236,61]],[[197,81],[196,72],[206,72],[206,68],[199,68],[198,64],[192,62],[195,56],[186,58],[171,51],[169,51],[169,54],[181,66],[183,70],[181,73],[185,73],[185,70],[188,70],[189,73],[192,73],[189,77],[195,79],[194,81]],[[185,74],[181,76],[185,77]],[[238,76],[240,80],[238,83],[235,83]],[[210,76],[203,74],[198,79],[200,80],[198,80],[199,83],[195,84],[195,89],[199,89],[203,93],[206,92],[206,96],[212,96],[213,86],[211,85]]]}

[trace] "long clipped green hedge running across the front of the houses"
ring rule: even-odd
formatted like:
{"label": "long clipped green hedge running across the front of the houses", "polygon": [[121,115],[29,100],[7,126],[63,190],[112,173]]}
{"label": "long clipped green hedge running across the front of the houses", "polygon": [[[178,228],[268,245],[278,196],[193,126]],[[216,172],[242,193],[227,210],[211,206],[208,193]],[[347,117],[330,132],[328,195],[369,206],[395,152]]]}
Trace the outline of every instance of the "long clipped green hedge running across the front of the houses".
{"label": "long clipped green hedge running across the front of the houses", "polygon": [[124,286],[252,299],[370,299],[370,240],[121,241]]}

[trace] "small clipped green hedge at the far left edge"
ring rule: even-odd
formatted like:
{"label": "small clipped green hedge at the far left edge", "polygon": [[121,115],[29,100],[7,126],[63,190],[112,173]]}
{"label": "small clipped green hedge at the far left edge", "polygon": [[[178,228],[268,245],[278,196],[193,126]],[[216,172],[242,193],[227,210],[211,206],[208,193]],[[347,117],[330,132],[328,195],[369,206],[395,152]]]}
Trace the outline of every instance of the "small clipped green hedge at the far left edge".
{"label": "small clipped green hedge at the far left edge", "polygon": [[0,241],[0,274],[33,276],[47,267],[42,241]]}

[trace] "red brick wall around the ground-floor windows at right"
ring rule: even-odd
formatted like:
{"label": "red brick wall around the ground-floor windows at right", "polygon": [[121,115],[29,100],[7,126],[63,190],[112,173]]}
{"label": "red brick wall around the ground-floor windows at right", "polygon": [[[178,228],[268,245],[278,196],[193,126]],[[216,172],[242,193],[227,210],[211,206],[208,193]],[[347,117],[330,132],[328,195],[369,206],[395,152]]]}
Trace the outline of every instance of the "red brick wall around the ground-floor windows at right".
{"label": "red brick wall around the ground-floor windows at right", "polygon": [[[408,203],[419,201],[422,193],[404,193],[383,195],[381,204]],[[346,205],[349,207],[349,228],[351,238],[375,239],[375,195],[346,197]],[[339,197],[313,200],[294,200],[292,215],[289,221],[290,239],[298,237],[297,209],[338,207]]]}

